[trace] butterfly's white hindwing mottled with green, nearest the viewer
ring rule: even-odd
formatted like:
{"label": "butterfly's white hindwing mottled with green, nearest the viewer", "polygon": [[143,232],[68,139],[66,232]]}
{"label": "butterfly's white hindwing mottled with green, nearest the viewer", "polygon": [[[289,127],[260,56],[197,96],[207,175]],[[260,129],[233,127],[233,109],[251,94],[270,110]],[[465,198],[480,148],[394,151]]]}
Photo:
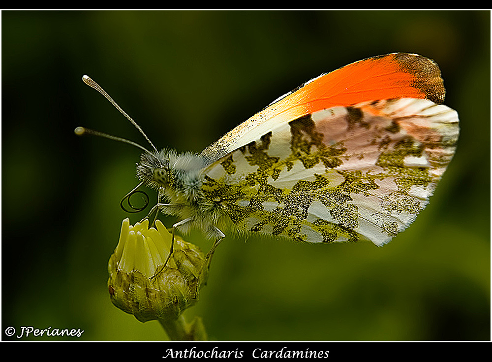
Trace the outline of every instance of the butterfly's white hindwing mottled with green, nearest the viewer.
{"label": "butterfly's white hindwing mottled with green, nearest the viewer", "polygon": [[425,208],[458,139],[458,114],[426,99],[335,107],[284,124],[202,171],[239,230],[383,245]]}

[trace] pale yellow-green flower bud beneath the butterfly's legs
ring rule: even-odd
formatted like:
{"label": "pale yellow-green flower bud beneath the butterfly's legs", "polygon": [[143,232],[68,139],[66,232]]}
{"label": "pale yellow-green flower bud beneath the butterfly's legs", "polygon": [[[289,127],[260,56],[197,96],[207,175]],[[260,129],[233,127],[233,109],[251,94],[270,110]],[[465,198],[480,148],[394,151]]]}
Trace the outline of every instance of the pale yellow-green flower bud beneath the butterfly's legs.
{"label": "pale yellow-green flower bud beneath the butterfly's legs", "polygon": [[159,220],[155,225],[149,228],[146,219],[131,226],[124,219],[108,263],[111,301],[141,322],[176,320],[198,301],[208,277],[202,251],[177,236],[167,260],[172,235]]}

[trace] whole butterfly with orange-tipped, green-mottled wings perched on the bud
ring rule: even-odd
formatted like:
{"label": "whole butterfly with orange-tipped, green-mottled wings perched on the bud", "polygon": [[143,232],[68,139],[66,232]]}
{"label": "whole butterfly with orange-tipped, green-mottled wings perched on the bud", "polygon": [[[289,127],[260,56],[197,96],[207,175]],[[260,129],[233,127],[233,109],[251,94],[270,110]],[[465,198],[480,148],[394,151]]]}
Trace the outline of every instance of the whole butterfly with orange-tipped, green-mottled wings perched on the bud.
{"label": "whole butterfly with orange-tipped, green-mottled wings perched on the bud", "polygon": [[[216,244],[219,226],[300,242],[370,240],[381,246],[429,202],[459,136],[458,113],[441,104],[439,67],[392,53],[349,64],[278,98],[201,153],[144,152],[138,187],[158,192],[153,210],[178,230]],[[134,190],[136,190],[135,188]]]}

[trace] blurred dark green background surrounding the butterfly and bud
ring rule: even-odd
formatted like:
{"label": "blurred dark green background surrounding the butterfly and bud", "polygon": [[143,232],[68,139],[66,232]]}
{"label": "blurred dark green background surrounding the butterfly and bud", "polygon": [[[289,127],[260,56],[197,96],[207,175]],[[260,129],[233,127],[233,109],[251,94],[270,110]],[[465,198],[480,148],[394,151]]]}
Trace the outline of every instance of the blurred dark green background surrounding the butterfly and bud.
{"label": "blurred dark green background surrounding the butterfly and bud", "polygon": [[[302,82],[401,51],[439,64],[446,104],[460,115],[456,156],[429,207],[383,248],[228,236],[185,316],[201,316],[214,340],[490,340],[490,19],[2,11],[2,339],[7,326],[80,328],[81,340],[166,338],[157,322],[109,300],[107,262],[128,216],[119,203],[137,184],[140,153],[73,130],[145,141],[83,74],[158,147],[200,152]],[[186,239],[211,246],[198,232]]]}

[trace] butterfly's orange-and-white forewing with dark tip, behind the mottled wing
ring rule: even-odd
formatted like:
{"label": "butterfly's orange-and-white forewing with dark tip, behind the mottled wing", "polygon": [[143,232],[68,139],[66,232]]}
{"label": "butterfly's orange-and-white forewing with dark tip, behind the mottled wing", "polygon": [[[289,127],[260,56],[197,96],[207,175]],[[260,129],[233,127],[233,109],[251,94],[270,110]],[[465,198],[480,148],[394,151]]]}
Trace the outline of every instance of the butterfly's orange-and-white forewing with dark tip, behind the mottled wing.
{"label": "butterfly's orange-and-white forewing with dark tip, behind the mottled wing", "polygon": [[441,72],[432,60],[408,53],[368,58],[314,78],[277,99],[207,147],[202,156],[216,160],[276,124],[322,109],[399,98],[442,103],[444,96]]}

